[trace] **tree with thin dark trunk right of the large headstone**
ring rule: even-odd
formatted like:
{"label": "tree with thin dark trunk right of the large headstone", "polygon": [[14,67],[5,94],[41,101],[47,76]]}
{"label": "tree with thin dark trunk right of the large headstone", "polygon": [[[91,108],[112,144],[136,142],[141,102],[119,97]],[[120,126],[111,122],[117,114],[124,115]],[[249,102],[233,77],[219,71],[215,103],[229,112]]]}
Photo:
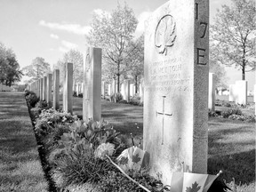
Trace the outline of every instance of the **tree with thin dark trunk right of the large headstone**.
{"label": "tree with thin dark trunk right of the large headstone", "polygon": [[227,66],[245,72],[255,70],[256,8],[252,0],[232,0],[232,6],[222,5],[211,27],[210,39],[216,58]]}

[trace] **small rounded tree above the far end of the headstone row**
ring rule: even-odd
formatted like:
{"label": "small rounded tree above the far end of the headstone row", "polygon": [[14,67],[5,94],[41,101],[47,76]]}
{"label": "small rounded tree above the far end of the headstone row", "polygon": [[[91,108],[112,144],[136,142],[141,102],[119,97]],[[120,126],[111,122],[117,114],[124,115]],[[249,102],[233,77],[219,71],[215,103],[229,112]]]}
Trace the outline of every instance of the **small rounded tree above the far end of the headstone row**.
{"label": "small rounded tree above the far end of the headstone row", "polygon": [[22,68],[22,72],[24,73],[24,75],[31,77],[28,82],[33,82],[40,78],[43,78],[48,73],[50,73],[50,71],[50,64],[47,63],[42,57],[36,57],[34,60],[32,60],[31,65]]}

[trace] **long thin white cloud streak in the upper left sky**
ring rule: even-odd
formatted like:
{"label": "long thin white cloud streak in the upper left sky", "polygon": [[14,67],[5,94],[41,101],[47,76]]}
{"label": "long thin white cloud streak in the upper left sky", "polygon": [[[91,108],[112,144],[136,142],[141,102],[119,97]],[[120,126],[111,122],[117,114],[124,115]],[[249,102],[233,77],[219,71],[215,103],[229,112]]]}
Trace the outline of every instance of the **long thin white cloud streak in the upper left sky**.
{"label": "long thin white cloud streak in the upper left sky", "polygon": [[40,20],[38,24],[46,28],[63,30],[76,35],[85,35],[91,30],[90,26],[81,26],[80,24],[70,23],[52,23],[46,22],[45,20]]}

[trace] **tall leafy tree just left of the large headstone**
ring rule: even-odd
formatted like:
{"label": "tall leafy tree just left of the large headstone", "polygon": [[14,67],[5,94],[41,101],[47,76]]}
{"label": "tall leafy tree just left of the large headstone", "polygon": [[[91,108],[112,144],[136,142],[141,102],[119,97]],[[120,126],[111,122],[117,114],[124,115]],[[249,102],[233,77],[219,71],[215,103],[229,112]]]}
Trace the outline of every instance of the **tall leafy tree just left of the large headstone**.
{"label": "tall leafy tree just left of the large headstone", "polygon": [[102,68],[107,69],[103,69],[102,74],[108,79],[117,77],[117,92],[120,92],[120,76],[127,70],[126,61],[135,50],[130,45],[137,24],[138,21],[132,9],[127,4],[124,6],[118,4],[110,14],[94,13],[92,30],[86,36],[88,44],[102,48]]}

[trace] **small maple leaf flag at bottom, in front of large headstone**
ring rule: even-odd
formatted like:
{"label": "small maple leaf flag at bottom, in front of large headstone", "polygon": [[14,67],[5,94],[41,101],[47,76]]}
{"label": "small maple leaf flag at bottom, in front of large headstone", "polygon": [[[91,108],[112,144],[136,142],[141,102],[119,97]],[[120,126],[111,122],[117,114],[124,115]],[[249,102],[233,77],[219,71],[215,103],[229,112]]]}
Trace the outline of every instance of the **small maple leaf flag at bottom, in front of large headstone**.
{"label": "small maple leaf flag at bottom, in front of large headstone", "polygon": [[197,174],[190,172],[173,172],[171,191],[175,192],[207,192],[212,182],[219,175]]}

